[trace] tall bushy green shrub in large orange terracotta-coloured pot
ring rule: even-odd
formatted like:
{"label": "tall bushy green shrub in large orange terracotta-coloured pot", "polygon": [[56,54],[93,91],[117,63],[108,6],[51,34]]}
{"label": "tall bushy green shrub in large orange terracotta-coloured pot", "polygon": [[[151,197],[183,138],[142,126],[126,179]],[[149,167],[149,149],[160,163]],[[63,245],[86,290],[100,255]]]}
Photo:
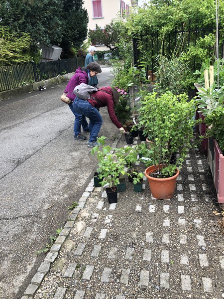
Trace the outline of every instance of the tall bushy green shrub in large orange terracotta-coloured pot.
{"label": "tall bushy green shrub in large orange terracotta-coloured pot", "polygon": [[[176,177],[188,149],[191,147],[195,100],[188,100],[186,94],[173,95],[166,92],[145,95],[139,108],[140,122],[152,141],[153,165],[145,169],[149,187],[155,198],[168,199],[175,193]],[[179,156],[172,160],[174,153]],[[165,180],[163,182],[163,180]],[[154,187],[160,182],[158,190]],[[166,190],[166,186],[170,185]]]}

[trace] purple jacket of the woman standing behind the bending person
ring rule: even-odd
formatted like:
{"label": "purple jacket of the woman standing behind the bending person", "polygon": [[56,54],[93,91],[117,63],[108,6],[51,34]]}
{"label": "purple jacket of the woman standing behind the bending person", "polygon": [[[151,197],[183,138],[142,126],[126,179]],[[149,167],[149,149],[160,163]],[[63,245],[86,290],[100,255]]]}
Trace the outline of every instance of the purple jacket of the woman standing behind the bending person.
{"label": "purple jacket of the woman standing behind the bending person", "polygon": [[89,77],[87,72],[82,71],[81,68],[78,67],[77,70],[75,71],[75,74],[69,80],[64,90],[64,93],[66,93],[66,96],[73,102],[76,97],[75,94],[72,94],[74,88],[81,83],[88,84],[88,82],[89,82]]}

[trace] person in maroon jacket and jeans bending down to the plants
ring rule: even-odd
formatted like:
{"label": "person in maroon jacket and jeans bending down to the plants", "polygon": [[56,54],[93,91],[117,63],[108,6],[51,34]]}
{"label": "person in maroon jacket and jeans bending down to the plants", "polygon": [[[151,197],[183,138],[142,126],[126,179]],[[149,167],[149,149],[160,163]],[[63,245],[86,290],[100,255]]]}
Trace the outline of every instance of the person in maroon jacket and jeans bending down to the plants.
{"label": "person in maroon jacket and jeans bending down to the plants", "polygon": [[[113,124],[122,133],[125,133],[125,130],[122,128],[114,111],[114,105],[118,103],[118,100],[119,93],[115,89],[112,89],[110,86],[101,87],[97,92],[94,92],[88,100],[83,100],[79,97],[75,98],[73,102],[73,108],[76,111],[76,113],[80,116],[84,115],[90,120],[90,138],[87,143],[89,148],[100,146],[100,144],[97,142],[97,135],[100,132],[100,129],[103,124],[103,119],[99,112],[100,107],[107,106],[108,113]],[[80,121],[81,117],[75,119],[75,122]]]}

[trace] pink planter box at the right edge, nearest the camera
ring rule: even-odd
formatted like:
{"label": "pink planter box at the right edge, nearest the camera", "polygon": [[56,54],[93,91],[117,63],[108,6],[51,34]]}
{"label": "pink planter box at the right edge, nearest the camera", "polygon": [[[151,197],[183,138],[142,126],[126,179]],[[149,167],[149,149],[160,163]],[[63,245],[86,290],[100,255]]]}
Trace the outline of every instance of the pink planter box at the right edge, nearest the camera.
{"label": "pink planter box at the right edge, nearest the camera", "polygon": [[209,139],[208,161],[217,191],[218,202],[224,204],[224,155],[215,139]]}

